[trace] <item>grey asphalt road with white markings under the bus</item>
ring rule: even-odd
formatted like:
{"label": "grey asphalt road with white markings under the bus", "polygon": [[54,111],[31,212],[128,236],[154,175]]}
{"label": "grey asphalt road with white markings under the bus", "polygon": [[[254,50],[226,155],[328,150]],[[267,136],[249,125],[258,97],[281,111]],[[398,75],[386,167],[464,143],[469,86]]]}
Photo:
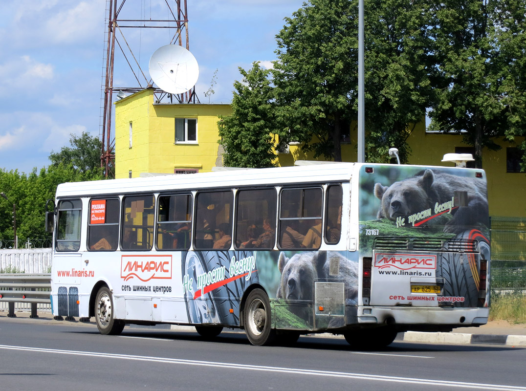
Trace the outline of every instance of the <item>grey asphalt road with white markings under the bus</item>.
{"label": "grey asphalt road with white markings under the bus", "polygon": [[0,317],[0,389],[526,391],[526,349],[396,341],[356,352],[343,338],[256,347],[244,334]]}

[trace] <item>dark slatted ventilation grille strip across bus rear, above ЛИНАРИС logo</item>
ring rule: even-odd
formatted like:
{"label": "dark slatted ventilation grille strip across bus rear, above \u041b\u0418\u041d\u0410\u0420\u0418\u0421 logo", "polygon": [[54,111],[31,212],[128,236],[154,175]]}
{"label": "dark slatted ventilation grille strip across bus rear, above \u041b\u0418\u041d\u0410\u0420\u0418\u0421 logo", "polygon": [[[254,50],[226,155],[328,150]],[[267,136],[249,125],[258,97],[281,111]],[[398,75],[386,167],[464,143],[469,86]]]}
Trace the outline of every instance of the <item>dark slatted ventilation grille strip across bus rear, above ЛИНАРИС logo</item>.
{"label": "dark slatted ventilation grille strip across bus rear, above \u041b\u0418\u041d\u0410\u0420\u0418\u0421 logo", "polygon": [[472,239],[424,239],[414,237],[376,237],[375,250],[447,251],[452,253],[478,253],[477,240]]}

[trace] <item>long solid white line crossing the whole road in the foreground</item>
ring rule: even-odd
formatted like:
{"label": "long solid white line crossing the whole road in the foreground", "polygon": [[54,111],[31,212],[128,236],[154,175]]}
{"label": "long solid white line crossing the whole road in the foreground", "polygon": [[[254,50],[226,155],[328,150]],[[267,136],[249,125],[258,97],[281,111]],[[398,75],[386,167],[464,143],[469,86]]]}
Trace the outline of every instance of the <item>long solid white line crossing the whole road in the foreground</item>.
{"label": "long solid white line crossing the whole road in the foreground", "polygon": [[168,357],[152,357],[152,356],[135,356],[135,355],[115,354],[115,353],[83,352],[81,350],[62,350],[62,349],[48,349],[48,348],[39,348],[39,347],[9,346],[9,345],[0,345],[0,349],[22,350],[22,351],[27,351],[31,353],[42,352],[42,353],[68,354],[68,355],[88,356],[88,357],[120,358],[120,359],[125,359],[125,360],[138,360],[138,361],[147,361],[147,362],[153,362],[153,363],[195,365],[195,366],[206,366],[206,367],[227,368],[227,369],[258,370],[261,372],[274,372],[274,373],[284,373],[284,374],[294,374],[294,375],[311,375],[311,376],[339,377],[339,378],[348,378],[348,379],[377,380],[380,382],[389,382],[389,383],[411,383],[411,384],[420,384],[420,385],[433,385],[433,386],[458,387],[458,388],[476,388],[476,389],[488,389],[488,390],[498,390],[498,391],[526,391],[526,387],[508,386],[508,385],[499,385],[499,384],[452,382],[450,380],[418,379],[418,378],[413,378],[413,377],[368,375],[368,374],[348,373],[348,372],[332,372],[332,371],[317,370],[317,369],[280,368],[280,367],[255,366],[255,365],[236,364],[236,363],[218,363],[218,362],[213,362],[213,361],[186,360],[186,359],[168,358]]}

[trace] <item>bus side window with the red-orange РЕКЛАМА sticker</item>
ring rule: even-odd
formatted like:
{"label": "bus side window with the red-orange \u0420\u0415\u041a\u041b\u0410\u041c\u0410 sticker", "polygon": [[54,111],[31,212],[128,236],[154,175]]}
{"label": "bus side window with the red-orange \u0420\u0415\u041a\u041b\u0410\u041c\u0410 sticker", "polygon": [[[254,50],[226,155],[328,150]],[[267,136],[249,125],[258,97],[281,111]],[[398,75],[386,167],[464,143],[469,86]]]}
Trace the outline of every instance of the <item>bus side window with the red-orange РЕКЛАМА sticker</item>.
{"label": "bus side window with the red-orange \u0420\u0415\u041a\u041b\u0410\u041c\u0410 sticker", "polygon": [[88,251],[115,251],[119,240],[118,198],[89,202]]}

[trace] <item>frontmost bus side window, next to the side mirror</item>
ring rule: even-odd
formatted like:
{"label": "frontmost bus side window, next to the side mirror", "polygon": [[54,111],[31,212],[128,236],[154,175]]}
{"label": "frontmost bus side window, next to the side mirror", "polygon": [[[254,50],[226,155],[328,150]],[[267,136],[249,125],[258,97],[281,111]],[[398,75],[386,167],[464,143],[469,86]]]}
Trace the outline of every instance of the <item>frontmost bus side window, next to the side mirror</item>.
{"label": "frontmost bus side window, next to the side mirror", "polygon": [[82,201],[80,199],[60,200],[57,212],[56,250],[78,251],[80,248]]}

